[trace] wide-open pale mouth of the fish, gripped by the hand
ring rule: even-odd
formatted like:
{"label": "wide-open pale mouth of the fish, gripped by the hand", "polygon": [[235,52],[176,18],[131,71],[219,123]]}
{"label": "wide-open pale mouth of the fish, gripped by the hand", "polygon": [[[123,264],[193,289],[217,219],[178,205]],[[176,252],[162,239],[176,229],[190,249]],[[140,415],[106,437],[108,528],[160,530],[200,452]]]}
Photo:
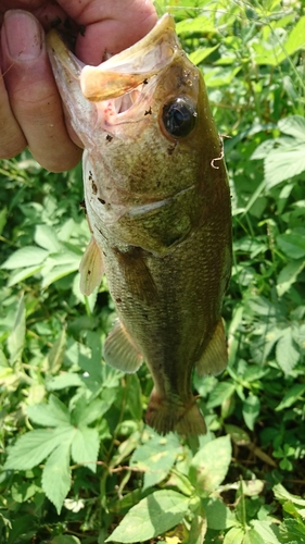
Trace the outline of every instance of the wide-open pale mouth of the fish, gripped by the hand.
{"label": "wide-open pale mouth of the fish, gripped by the hand", "polygon": [[[62,42],[55,30],[47,38],[55,74],[78,79],[85,99],[94,102],[104,129],[120,122],[135,122],[137,108],[148,103],[156,77],[181,51],[175,22],[165,14],[140,41],[98,66],[81,63]],[[66,102],[68,103],[68,97]],[[132,110],[132,111],[131,111]],[[149,109],[148,109],[149,113]],[[126,114],[124,119],[122,114]]]}

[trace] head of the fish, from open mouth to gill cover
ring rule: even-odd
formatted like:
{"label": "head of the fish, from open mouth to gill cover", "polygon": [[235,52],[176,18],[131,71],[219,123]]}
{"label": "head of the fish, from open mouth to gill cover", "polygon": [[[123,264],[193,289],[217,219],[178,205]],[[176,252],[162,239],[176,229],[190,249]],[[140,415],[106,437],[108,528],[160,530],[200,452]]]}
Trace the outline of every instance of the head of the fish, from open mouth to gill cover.
{"label": "head of the fish, from open mouth to gill cover", "polygon": [[54,32],[48,49],[86,149],[90,224],[111,225],[122,242],[156,255],[173,250],[202,223],[226,178],[223,162],[213,165],[221,145],[203,77],[181,49],[173,17],[165,14],[99,66],[80,63]]}

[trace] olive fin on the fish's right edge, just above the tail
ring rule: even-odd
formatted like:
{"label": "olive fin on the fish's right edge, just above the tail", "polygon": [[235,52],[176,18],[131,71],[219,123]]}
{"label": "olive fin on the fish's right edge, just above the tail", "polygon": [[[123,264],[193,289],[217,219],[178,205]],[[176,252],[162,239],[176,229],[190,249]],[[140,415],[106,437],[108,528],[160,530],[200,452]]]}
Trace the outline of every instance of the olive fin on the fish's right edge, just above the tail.
{"label": "olive fin on the fish's right edge, just above the tail", "polygon": [[201,359],[196,362],[199,375],[219,374],[228,364],[226,334],[221,318]]}

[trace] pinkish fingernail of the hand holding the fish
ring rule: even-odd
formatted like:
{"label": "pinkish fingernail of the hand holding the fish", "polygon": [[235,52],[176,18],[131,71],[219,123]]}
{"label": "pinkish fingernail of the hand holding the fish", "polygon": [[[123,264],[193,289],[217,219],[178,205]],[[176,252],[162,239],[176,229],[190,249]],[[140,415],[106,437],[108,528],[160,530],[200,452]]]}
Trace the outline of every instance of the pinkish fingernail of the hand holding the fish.
{"label": "pinkish fingernail of the hand holding the fish", "polygon": [[38,21],[23,10],[10,10],[4,15],[4,40],[15,61],[31,61],[42,49],[42,32]]}

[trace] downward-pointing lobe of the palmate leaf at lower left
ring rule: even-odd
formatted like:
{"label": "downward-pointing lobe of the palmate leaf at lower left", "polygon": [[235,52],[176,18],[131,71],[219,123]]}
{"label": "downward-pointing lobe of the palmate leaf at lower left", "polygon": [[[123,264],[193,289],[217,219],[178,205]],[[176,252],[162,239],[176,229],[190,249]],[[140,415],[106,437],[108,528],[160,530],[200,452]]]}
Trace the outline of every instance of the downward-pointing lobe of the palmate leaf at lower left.
{"label": "downward-pointing lobe of the palmate leaf at lower left", "polygon": [[42,471],[42,490],[59,515],[69,487],[69,443],[64,442],[50,455]]}

